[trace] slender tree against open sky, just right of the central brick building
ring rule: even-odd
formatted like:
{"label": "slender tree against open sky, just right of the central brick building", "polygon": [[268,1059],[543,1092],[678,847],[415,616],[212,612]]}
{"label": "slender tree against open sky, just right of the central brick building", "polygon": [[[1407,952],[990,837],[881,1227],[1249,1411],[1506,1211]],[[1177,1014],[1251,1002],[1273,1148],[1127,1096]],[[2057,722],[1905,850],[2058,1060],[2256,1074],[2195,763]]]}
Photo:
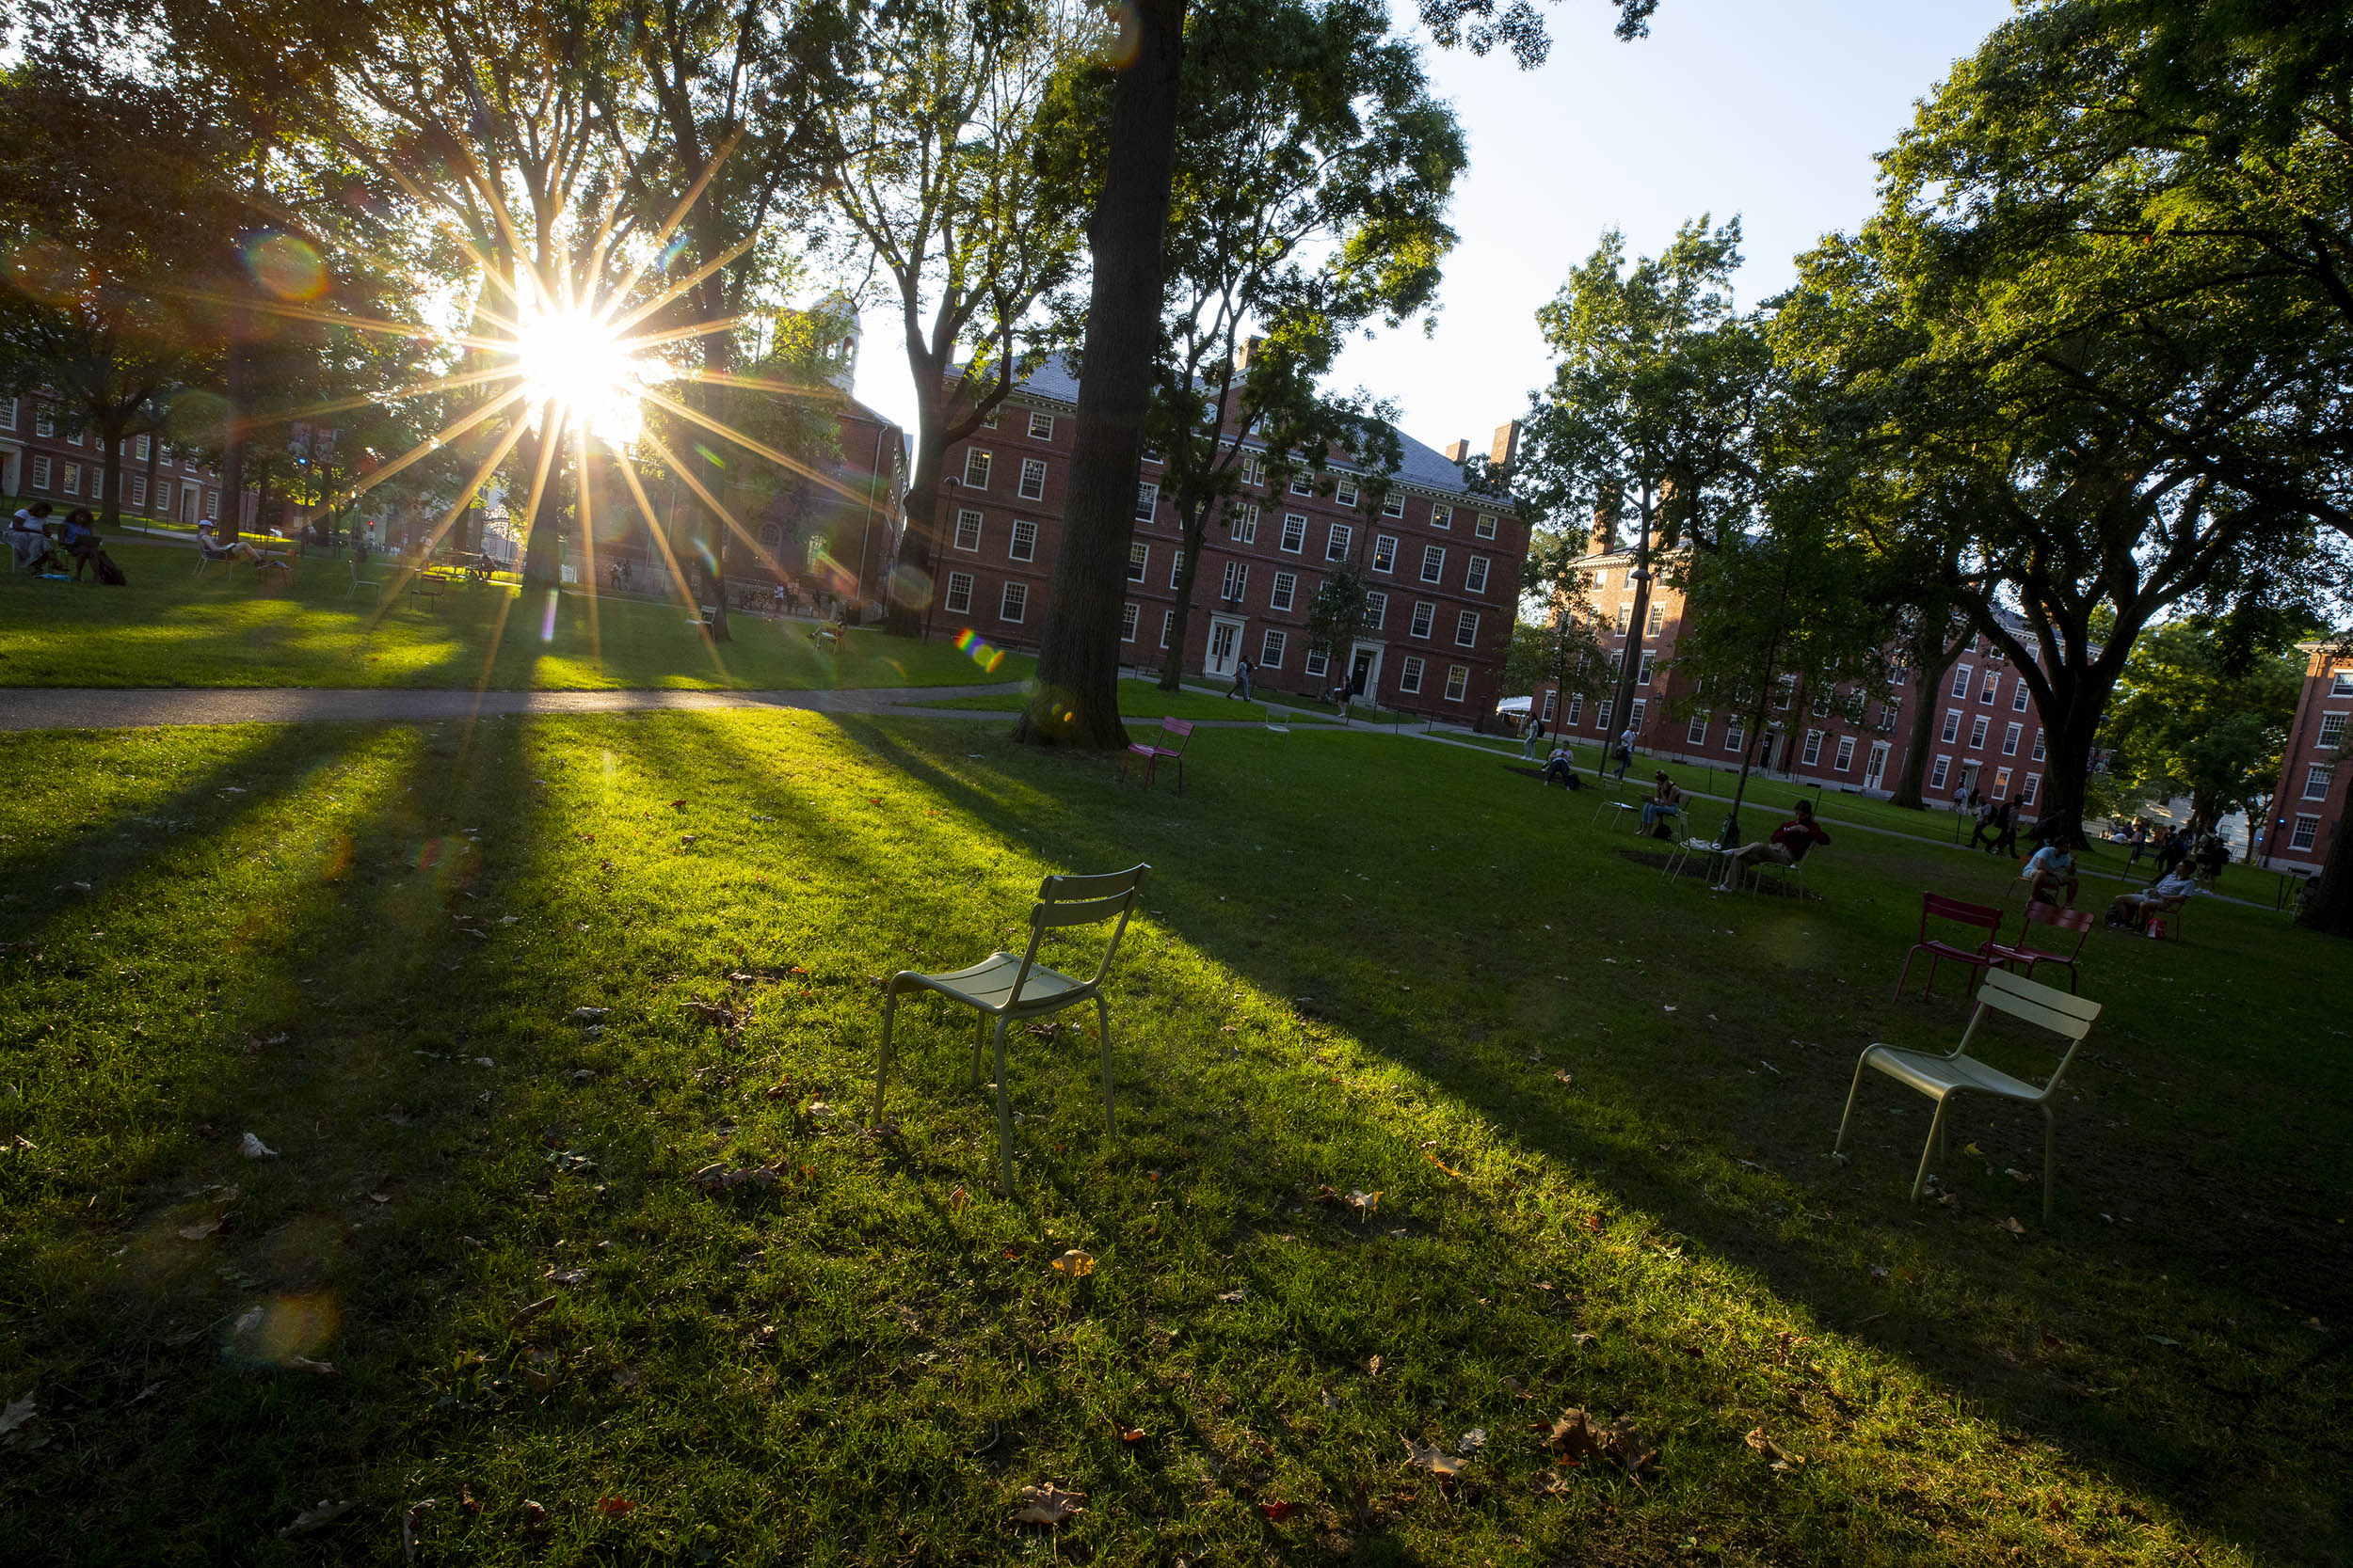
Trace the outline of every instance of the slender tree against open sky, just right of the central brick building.
{"label": "slender tree against open sky, just right of the central brick building", "polygon": [[1635,599],[1614,712],[1633,705],[1654,559],[1748,510],[1772,355],[1732,308],[1739,242],[1739,219],[1711,230],[1701,216],[1661,256],[1628,266],[1612,230],[1537,313],[1560,362],[1534,397],[1520,484],[1546,510],[1591,512],[1612,534],[1633,505]]}

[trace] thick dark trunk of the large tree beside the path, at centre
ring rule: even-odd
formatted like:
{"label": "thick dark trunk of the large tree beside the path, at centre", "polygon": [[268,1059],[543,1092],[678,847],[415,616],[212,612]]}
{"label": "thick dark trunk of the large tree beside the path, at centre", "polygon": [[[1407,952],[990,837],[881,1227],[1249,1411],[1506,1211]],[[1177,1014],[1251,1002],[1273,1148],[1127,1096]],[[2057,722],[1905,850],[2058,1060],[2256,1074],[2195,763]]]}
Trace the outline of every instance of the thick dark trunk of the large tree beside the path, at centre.
{"label": "thick dark trunk of the large tree beside the path, at centre", "polygon": [[1087,376],[1064,508],[1054,602],[1038,644],[1038,682],[1014,738],[1096,750],[1127,745],[1120,724],[1120,607],[1134,541],[1144,414],[1160,346],[1162,254],[1176,172],[1176,87],[1186,0],[1136,0],[1136,54],[1111,89],[1104,193],[1087,226]]}

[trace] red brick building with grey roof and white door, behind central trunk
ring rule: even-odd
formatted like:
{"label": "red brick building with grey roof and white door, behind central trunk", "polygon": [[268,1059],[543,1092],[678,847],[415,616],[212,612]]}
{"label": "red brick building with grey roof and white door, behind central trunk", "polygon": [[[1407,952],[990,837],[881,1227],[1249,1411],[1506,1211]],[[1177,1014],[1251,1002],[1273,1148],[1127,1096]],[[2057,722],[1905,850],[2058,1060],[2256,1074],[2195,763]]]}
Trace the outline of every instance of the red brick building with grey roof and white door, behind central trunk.
{"label": "red brick building with grey roof and white door, behind central trunk", "polygon": [[[1014,388],[993,425],[948,449],[932,630],[969,628],[1014,649],[1038,644],[1075,425],[1078,381],[1056,360]],[[1497,442],[1515,433],[1506,425]],[[1146,454],[1120,663],[1162,668],[1174,656],[1188,672],[1231,679],[1247,656],[1259,686],[1327,691],[1344,670],[1308,654],[1308,607],[1329,567],[1358,559],[1369,604],[1346,672],[1362,672],[1365,698],[1464,724],[1492,715],[1527,522],[1508,498],[1468,489],[1466,456],[1466,442],[1438,454],[1405,440],[1405,461],[1379,503],[1346,465],[1332,468],[1334,491],[1320,496],[1306,480],[1268,484],[1266,463],[1252,458],[1252,482],[1228,503],[1231,527],[1209,524],[1186,646],[1169,649],[1184,545],[1176,512],[1160,498],[1160,461]]]}

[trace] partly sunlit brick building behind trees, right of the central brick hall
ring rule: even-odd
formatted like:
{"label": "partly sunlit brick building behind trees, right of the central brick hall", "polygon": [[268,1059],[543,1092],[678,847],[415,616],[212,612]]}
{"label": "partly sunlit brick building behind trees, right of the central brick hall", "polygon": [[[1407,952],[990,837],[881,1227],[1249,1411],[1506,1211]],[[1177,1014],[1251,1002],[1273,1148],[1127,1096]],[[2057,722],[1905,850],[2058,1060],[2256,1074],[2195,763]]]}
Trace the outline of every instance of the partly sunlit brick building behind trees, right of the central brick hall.
{"label": "partly sunlit brick building behind trees, right of the central brick hall", "polygon": [[[1624,649],[1638,642],[1631,635],[1635,552],[1614,548],[1612,541],[1595,543],[1600,548],[1584,557],[1581,569],[1600,616],[1602,649],[1609,651],[1612,670],[1617,670]],[[1657,555],[1652,559],[1657,564]],[[1668,668],[1682,618],[1682,595],[1666,583],[1652,583],[1628,719],[1612,712],[1614,682],[1600,696],[1572,691],[1565,705],[1553,682],[1541,682],[1532,710],[1546,729],[1565,731],[1572,738],[1607,743],[1631,722],[1635,750],[1645,755],[1737,769],[1741,750],[1751,741],[1741,729],[1746,715],[1678,712],[1692,693],[1692,684]],[[2014,630],[2024,632],[2024,623]],[[1929,759],[1920,776],[1922,797],[1939,802],[1951,799],[1955,790],[1974,788],[1986,799],[2017,799],[2028,811],[2035,806],[2042,795],[2047,755],[2042,719],[2026,679],[2009,668],[2005,654],[1984,637],[1974,637],[1932,679],[1922,682],[1915,672],[1899,672],[1897,679],[1899,684],[1885,693],[1885,701],[1868,703],[1859,724],[1849,719],[1845,703],[1833,701],[1840,693],[1809,693],[1795,689],[1793,682],[1784,684],[1767,708],[1767,733],[1758,745],[1755,766],[1828,790],[1892,795],[1904,776],[1913,715],[1920,703],[1934,703],[1941,715],[1927,741]]]}

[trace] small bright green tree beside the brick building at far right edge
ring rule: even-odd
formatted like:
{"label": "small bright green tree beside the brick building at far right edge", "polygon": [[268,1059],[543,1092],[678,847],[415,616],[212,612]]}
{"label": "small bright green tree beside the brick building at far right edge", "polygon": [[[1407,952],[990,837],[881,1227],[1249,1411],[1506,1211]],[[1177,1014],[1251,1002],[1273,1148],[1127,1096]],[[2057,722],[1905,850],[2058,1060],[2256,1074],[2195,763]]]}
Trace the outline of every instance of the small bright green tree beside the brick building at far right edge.
{"label": "small bright green tree beside the brick building at far right edge", "polygon": [[2278,616],[2184,616],[2151,628],[2125,661],[2099,743],[2125,797],[2191,799],[2212,827],[2247,813],[2249,851],[2304,693],[2299,628]]}

